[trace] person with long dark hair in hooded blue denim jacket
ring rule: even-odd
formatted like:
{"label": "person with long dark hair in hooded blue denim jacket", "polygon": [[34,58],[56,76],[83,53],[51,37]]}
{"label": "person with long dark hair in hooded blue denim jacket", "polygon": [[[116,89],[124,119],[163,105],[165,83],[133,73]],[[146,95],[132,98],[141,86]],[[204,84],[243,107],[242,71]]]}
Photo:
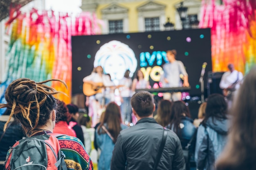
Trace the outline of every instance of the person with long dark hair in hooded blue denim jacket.
{"label": "person with long dark hair in hooded blue denim jacket", "polygon": [[227,103],[221,94],[208,97],[205,118],[198,127],[195,162],[198,170],[215,170],[218,159],[227,143]]}

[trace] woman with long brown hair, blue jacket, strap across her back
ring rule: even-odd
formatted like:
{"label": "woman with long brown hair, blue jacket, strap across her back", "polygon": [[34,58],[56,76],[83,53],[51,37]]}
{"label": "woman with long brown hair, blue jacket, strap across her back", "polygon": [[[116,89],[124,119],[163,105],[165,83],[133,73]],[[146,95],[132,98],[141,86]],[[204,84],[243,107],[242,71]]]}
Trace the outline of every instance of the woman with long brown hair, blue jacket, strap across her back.
{"label": "woman with long brown hair, blue jacket, strap across her back", "polygon": [[97,128],[96,142],[101,150],[99,170],[110,170],[112,151],[120,131],[127,126],[122,124],[120,108],[115,102],[110,102],[103,116],[103,121]]}

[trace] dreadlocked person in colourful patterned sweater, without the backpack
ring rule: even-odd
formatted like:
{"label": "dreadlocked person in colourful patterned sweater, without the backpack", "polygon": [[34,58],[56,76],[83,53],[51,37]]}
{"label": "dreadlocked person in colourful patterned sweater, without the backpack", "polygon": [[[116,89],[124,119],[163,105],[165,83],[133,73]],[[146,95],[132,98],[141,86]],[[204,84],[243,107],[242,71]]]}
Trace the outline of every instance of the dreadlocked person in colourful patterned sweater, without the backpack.
{"label": "dreadlocked person in colourful patterned sweater, without the backpack", "polygon": [[[52,133],[56,116],[58,116],[56,114],[58,113],[56,112],[58,106],[53,95],[61,92],[44,85],[49,81],[60,81],[66,86],[63,81],[58,79],[36,83],[28,78],[19,78],[7,87],[5,92],[7,104],[0,104],[0,108],[7,107],[7,109],[11,109],[4,131],[6,131],[11,117],[15,116],[27,137]],[[64,159],[68,170],[93,169],[92,161],[79,139],[68,135],[57,139],[61,151],[65,155]]]}

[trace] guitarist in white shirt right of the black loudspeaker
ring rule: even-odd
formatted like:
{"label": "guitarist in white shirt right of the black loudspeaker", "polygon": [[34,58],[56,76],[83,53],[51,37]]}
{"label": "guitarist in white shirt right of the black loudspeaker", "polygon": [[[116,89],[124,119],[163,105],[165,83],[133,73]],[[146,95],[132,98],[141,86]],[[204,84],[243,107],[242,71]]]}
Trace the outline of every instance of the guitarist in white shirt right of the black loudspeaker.
{"label": "guitarist in white shirt right of the black loudspeaker", "polygon": [[233,64],[228,65],[229,71],[225,72],[220,80],[220,88],[223,90],[223,95],[226,97],[228,107],[232,105],[232,100],[239,89],[240,83],[243,80],[243,74],[234,69]]}

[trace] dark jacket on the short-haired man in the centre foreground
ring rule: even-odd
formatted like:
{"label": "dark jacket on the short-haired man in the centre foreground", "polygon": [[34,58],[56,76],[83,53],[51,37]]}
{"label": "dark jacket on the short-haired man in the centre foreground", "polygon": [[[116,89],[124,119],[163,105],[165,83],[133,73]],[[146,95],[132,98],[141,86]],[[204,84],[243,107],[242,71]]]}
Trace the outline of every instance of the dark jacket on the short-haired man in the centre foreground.
{"label": "dark jacket on the short-haired man in the centre foreground", "polygon": [[[135,126],[120,132],[113,150],[111,170],[153,170],[163,127],[154,118],[142,118]],[[185,170],[180,139],[168,130],[157,170]]]}

